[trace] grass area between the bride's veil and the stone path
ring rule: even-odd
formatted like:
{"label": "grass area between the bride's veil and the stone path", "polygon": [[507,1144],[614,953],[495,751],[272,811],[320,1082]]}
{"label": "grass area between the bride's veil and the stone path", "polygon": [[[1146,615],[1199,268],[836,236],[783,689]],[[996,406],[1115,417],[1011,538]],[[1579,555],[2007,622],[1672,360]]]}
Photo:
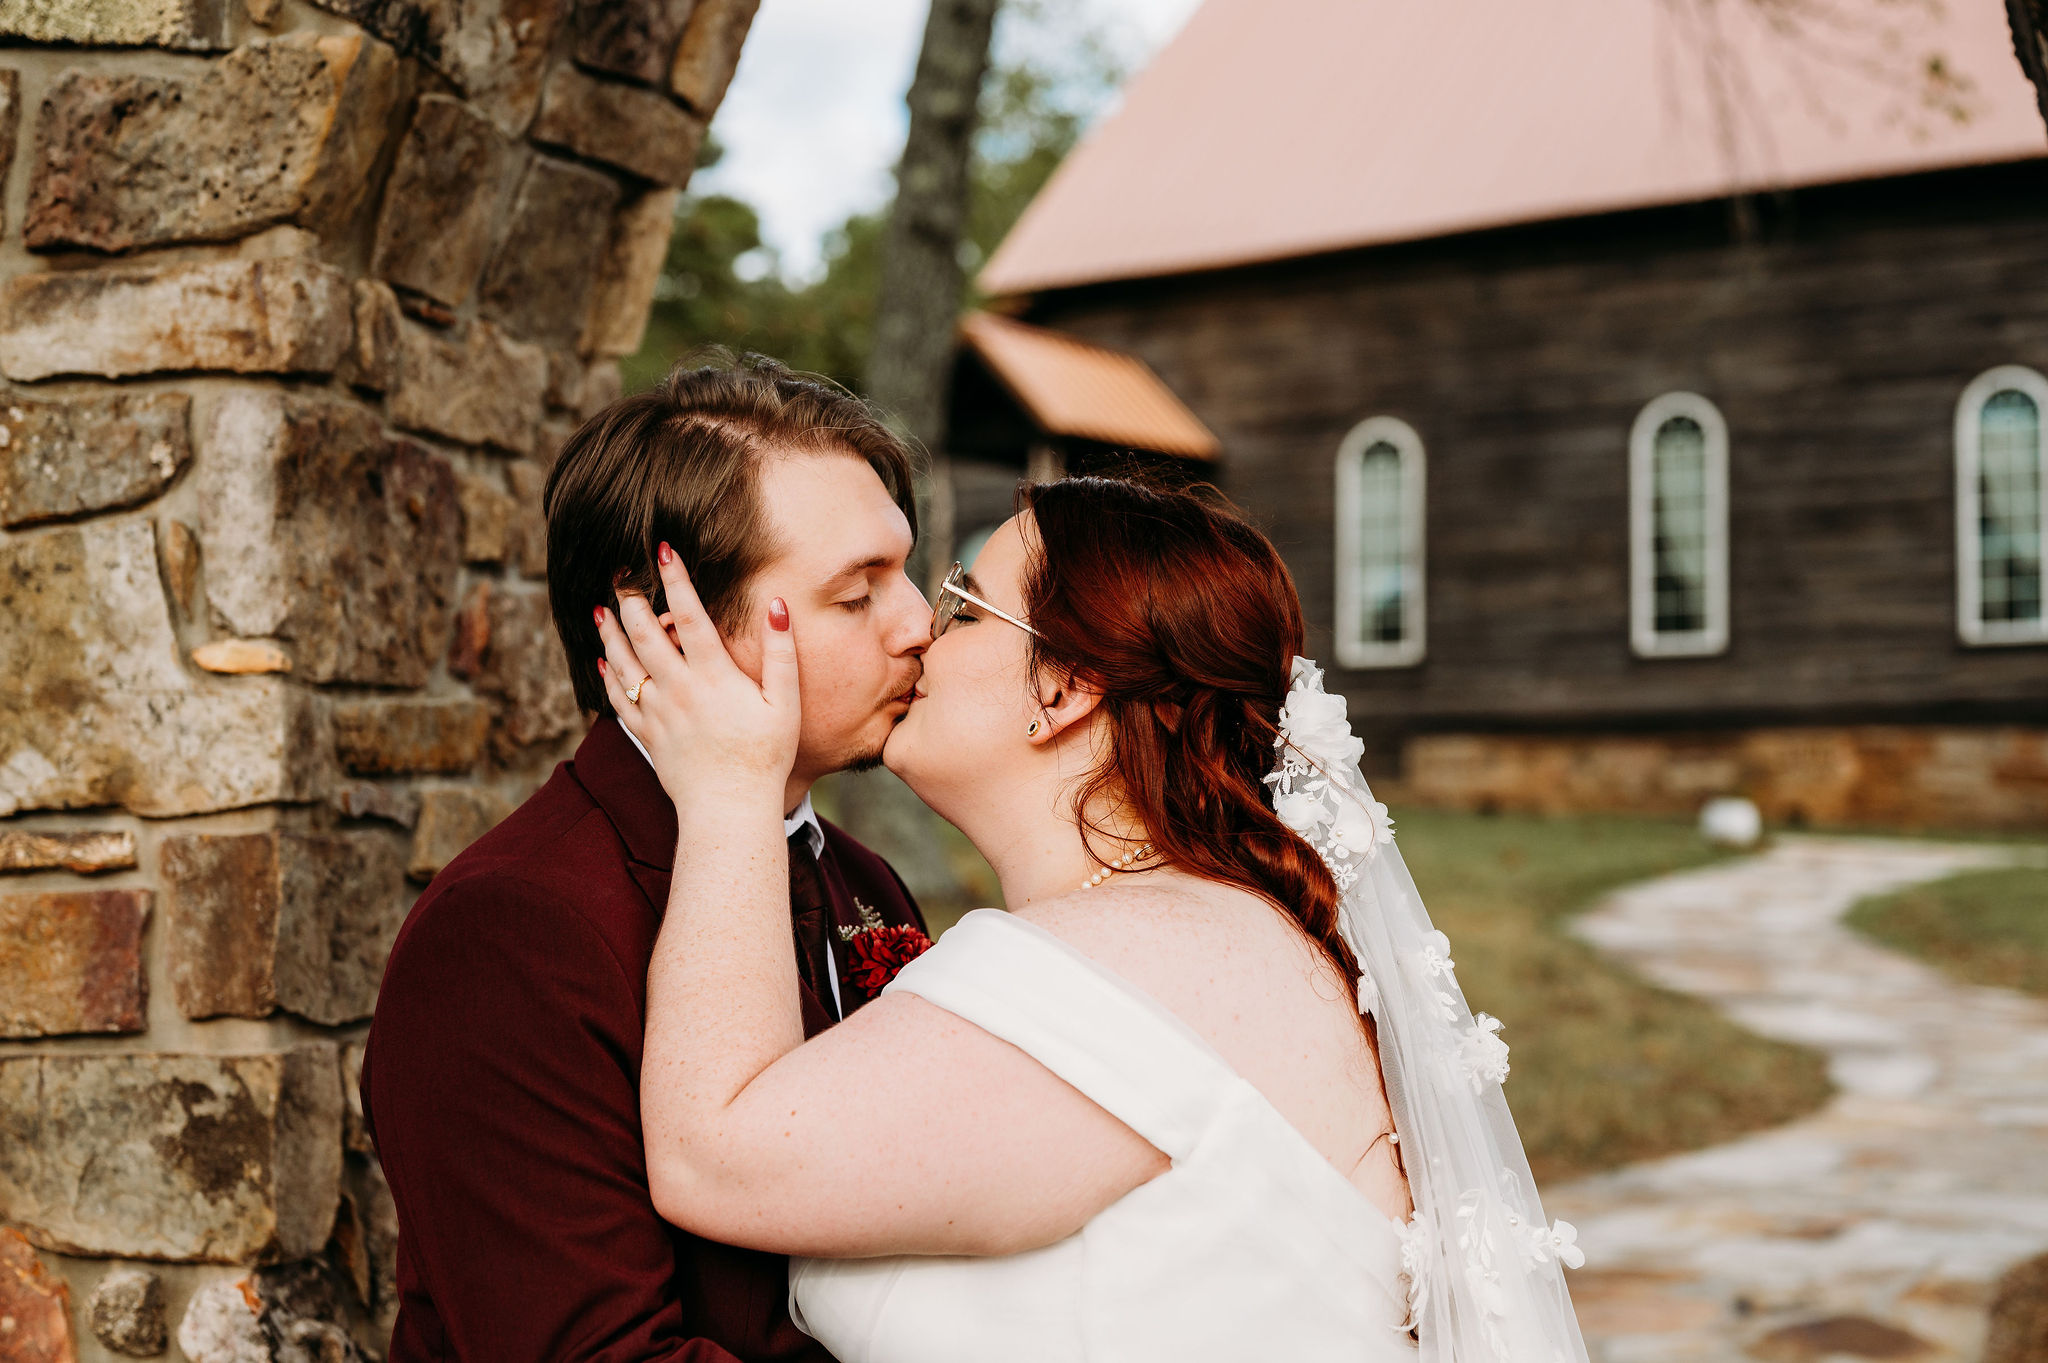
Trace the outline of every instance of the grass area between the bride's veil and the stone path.
{"label": "grass area between the bride's veil and the stone path", "polygon": [[1507,1023],[1507,1103],[1538,1179],[1696,1150],[1827,1101],[1817,1052],[1745,1031],[1565,933],[1612,888],[1724,855],[1692,825],[1395,812],[1473,1009]]}

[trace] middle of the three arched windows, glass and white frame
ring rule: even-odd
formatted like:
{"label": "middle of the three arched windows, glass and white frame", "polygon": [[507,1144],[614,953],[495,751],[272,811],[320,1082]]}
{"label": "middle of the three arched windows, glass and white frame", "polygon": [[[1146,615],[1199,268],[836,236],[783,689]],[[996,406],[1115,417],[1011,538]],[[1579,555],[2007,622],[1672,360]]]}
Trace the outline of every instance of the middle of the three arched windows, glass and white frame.
{"label": "middle of the three arched windows, glass and white frame", "polygon": [[1729,424],[1698,393],[1665,393],[1628,434],[1628,643],[1729,647]]}

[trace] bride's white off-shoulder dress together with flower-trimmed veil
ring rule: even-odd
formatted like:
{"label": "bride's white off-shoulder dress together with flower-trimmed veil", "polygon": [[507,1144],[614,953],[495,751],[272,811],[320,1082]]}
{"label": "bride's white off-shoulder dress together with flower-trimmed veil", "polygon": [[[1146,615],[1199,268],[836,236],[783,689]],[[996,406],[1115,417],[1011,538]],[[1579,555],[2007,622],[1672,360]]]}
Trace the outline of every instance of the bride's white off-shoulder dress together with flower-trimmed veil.
{"label": "bride's white off-shoulder dress together with flower-trimmed veil", "polygon": [[889,988],[1022,1048],[1174,1167],[1028,1255],[797,1259],[803,1328],[844,1363],[1587,1363],[1565,1287],[1585,1255],[1536,1195],[1503,1023],[1464,1001],[1362,753],[1296,657],[1266,780],[1337,884],[1415,1216],[1380,1216],[1155,1001],[981,909]]}

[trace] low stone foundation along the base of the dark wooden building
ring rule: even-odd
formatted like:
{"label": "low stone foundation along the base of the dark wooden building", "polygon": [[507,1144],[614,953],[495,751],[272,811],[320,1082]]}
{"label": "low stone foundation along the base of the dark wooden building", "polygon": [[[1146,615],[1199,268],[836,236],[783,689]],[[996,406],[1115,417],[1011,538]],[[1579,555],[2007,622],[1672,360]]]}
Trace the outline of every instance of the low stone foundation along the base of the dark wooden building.
{"label": "low stone foundation along the base of the dark wooden building", "polygon": [[1427,735],[1403,749],[1423,804],[1696,815],[1747,796],[1774,825],[2048,829],[2048,729],[1810,727],[1675,735]]}

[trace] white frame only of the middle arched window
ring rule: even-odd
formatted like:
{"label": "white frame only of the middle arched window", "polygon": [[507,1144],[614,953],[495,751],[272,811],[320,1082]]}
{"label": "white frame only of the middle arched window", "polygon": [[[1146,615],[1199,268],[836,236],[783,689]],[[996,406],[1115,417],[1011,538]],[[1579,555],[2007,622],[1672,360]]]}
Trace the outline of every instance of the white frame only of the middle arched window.
{"label": "white frame only of the middle arched window", "polygon": [[[1657,630],[1655,456],[1657,432],[1692,417],[1706,438],[1706,626]],[[1729,647],[1729,424],[1698,393],[1665,393],[1628,432],[1628,643],[1636,657],[1712,657]]]}

